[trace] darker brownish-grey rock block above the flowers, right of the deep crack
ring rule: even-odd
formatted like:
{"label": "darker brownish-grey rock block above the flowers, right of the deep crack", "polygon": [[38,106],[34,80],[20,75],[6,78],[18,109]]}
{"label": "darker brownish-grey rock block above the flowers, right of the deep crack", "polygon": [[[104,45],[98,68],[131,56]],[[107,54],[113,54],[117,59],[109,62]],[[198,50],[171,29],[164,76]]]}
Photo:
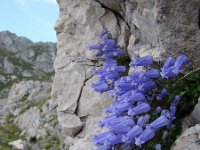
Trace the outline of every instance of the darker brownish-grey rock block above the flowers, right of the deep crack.
{"label": "darker brownish-grey rock block above the flowers, right of the deep crack", "polygon": [[129,42],[133,44],[133,48],[128,49],[131,58],[137,57],[140,51],[143,53],[142,47],[151,45],[150,49],[157,56],[185,53],[197,67],[200,64],[200,59],[196,57],[200,53],[199,5],[198,0],[127,2],[124,18],[134,37]]}

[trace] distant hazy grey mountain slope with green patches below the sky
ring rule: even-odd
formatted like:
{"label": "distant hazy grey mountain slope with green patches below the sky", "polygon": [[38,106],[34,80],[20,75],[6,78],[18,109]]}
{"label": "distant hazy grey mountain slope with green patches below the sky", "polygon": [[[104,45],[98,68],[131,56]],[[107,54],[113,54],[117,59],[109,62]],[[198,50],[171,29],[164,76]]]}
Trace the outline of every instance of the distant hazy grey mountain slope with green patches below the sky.
{"label": "distant hazy grey mountain slope with green patches below the sky", "polygon": [[0,97],[21,80],[52,80],[56,44],[33,43],[9,31],[0,32]]}

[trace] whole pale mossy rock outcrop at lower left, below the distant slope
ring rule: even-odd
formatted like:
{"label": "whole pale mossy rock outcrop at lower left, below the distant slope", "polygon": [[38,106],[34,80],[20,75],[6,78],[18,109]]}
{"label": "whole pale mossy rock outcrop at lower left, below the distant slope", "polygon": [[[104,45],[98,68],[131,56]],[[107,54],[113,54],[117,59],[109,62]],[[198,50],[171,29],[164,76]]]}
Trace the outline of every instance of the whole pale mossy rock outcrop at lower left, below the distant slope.
{"label": "whole pale mossy rock outcrop at lower left, below the distant slope", "polygon": [[13,85],[9,92],[4,115],[12,116],[26,137],[24,149],[39,150],[47,145],[60,149],[57,103],[50,98],[50,92],[51,83],[31,80]]}

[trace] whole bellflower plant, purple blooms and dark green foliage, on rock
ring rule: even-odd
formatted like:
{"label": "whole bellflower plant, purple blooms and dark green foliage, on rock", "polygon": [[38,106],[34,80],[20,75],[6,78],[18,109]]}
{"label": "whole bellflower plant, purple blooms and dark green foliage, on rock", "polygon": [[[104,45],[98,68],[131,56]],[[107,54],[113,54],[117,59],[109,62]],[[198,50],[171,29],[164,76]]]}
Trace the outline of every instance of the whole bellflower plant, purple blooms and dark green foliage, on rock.
{"label": "whole bellflower plant, purple blooms and dark green foliage, on rock", "polygon": [[[108,116],[99,123],[100,127],[107,130],[93,137],[97,149],[132,150],[152,144],[151,148],[160,150],[162,145],[166,146],[164,141],[176,126],[177,105],[185,92],[170,92],[172,83],[178,79],[183,65],[188,62],[187,56],[170,56],[161,68],[151,68],[154,63],[152,56],[131,62],[123,60],[126,63],[118,66],[120,61],[117,59],[123,57],[125,52],[106,29],[99,37],[99,43],[91,45],[89,49],[97,50],[97,56],[105,62],[102,68],[94,71],[99,80],[92,88],[99,93],[109,92],[116,101],[105,109]],[[149,70],[128,75],[127,62],[130,62],[130,67],[143,66]],[[153,140],[159,143],[152,143]]]}

